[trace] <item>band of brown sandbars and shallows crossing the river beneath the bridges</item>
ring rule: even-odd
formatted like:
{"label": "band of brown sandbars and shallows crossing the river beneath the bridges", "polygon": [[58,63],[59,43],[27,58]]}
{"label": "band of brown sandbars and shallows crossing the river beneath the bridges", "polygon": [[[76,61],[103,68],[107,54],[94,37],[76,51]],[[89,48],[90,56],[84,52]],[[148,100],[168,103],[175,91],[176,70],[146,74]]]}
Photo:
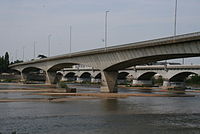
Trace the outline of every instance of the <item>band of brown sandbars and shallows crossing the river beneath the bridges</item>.
{"label": "band of brown sandbars and shallows crossing the river beneath the bridges", "polygon": [[[66,93],[64,88],[55,88],[55,85],[0,83],[0,103],[5,102],[66,102],[87,99],[113,99],[128,97],[194,97],[200,91],[169,91],[154,87],[122,87],[119,93],[100,93],[96,89],[77,89],[77,93]],[[6,87],[7,86],[7,87]],[[11,87],[10,87],[11,86]],[[73,85],[74,86],[74,85]],[[5,88],[4,88],[5,87]],[[88,87],[88,88],[87,88]],[[128,91],[128,93],[126,93]],[[190,94],[186,94],[190,93]],[[6,94],[11,97],[4,97]],[[16,95],[20,95],[17,98]]]}

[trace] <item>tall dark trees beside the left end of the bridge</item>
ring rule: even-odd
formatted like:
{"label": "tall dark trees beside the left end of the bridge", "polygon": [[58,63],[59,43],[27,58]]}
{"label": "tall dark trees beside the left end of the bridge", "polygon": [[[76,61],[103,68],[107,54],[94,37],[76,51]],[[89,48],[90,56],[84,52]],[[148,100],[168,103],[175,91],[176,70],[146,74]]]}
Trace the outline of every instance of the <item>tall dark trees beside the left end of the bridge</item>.
{"label": "tall dark trees beside the left end of the bridge", "polygon": [[4,56],[0,56],[0,73],[9,72],[9,63],[9,54],[6,52]]}

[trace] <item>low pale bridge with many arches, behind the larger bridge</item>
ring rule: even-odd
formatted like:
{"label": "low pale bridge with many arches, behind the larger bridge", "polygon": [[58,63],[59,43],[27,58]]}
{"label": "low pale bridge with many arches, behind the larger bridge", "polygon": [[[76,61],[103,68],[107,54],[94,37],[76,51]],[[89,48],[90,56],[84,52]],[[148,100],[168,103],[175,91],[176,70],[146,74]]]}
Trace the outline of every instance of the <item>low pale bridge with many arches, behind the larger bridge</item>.
{"label": "low pale bridge with many arches, behind the larger bridge", "polygon": [[[58,71],[64,81],[101,82],[101,71],[92,67],[73,67]],[[163,87],[185,86],[188,76],[200,75],[200,65],[151,65],[134,66],[118,71],[118,83],[125,83],[128,79],[132,85],[152,85],[152,77],[162,76]]]}

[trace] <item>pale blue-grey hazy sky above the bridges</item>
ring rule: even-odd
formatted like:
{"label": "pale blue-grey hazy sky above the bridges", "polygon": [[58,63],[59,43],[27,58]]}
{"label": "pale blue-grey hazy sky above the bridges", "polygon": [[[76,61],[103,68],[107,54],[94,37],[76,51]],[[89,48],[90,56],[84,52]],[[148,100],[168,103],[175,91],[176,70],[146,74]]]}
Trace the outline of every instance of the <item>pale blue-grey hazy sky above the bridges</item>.
{"label": "pale blue-grey hazy sky above the bridges", "polygon": [[[200,31],[199,5],[178,0],[177,34]],[[174,8],[175,0],[0,0],[0,55],[28,61],[34,42],[36,56],[48,55],[49,35],[51,56],[69,53],[70,26],[72,52],[102,48],[106,11],[108,46],[173,36]]]}

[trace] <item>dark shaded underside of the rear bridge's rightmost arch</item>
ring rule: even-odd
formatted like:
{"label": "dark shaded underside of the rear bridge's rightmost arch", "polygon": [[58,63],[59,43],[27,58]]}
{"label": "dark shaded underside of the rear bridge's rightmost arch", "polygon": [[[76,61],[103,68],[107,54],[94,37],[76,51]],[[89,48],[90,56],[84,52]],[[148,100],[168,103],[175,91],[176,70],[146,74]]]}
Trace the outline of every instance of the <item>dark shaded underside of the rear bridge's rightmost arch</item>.
{"label": "dark shaded underside of the rear bridge's rightmost arch", "polygon": [[184,82],[185,79],[191,74],[198,75],[195,72],[181,72],[181,73],[173,75],[171,78],[169,78],[169,81],[170,82]]}

